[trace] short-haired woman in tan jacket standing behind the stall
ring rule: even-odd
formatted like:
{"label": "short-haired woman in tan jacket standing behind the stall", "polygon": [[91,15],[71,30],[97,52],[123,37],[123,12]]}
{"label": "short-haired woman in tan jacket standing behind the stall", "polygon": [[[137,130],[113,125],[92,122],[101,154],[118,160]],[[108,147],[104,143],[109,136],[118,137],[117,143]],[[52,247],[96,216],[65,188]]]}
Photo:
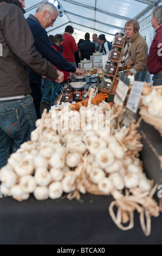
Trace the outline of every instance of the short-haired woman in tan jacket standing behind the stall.
{"label": "short-haired woman in tan jacket standing behind the stall", "polygon": [[135,75],[137,71],[147,71],[148,47],[145,39],[140,35],[139,29],[140,26],[137,20],[131,19],[125,24],[125,39],[128,49],[128,58],[125,61],[131,64],[130,75]]}

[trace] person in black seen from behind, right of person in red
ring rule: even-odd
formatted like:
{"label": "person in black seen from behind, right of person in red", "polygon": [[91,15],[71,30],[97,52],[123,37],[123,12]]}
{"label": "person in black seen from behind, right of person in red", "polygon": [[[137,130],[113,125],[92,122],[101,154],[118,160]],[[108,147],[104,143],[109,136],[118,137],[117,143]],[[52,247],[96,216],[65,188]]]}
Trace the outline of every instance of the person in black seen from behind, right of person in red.
{"label": "person in black seen from behind, right of person in red", "polygon": [[95,44],[93,42],[90,42],[89,38],[89,33],[86,33],[85,41],[82,42],[82,44],[80,44],[79,46],[79,58],[81,60],[90,59],[90,56],[92,56],[93,53],[96,52]]}

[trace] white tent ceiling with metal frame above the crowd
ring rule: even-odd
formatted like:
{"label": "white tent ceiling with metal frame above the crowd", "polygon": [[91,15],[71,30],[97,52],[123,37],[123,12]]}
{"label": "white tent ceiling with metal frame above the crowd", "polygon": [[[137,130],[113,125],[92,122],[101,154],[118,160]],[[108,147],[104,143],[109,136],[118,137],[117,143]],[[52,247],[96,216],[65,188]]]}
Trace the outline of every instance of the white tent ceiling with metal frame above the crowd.
{"label": "white tent ceiling with metal frame above the crowd", "polygon": [[[147,11],[154,8],[161,0],[57,0],[63,8],[64,15],[58,17],[53,27],[46,29],[48,34],[63,34],[64,28],[71,25],[74,28],[74,38],[84,39],[85,33],[91,35],[105,34],[112,41],[115,33],[124,29],[129,19],[139,19]],[[44,1],[25,1],[26,14],[35,14],[36,5]]]}

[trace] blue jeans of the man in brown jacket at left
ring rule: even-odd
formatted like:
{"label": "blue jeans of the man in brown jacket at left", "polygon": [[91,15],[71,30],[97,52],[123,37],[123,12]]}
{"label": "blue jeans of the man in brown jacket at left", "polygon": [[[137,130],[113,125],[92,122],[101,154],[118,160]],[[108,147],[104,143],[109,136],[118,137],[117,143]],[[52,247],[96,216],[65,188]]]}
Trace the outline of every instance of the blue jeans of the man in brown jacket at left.
{"label": "blue jeans of the man in brown jacket at left", "polygon": [[31,95],[22,99],[0,101],[0,168],[7,163],[11,153],[30,140],[36,120]]}

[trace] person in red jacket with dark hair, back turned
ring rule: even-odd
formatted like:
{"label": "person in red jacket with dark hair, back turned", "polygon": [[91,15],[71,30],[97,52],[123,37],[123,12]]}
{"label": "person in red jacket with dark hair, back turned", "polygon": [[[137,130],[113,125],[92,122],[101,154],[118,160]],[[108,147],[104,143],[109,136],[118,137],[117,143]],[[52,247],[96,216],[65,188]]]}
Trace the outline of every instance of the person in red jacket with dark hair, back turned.
{"label": "person in red jacket with dark hair, back turned", "polygon": [[78,47],[75,42],[75,39],[72,36],[73,33],[74,29],[70,25],[64,29],[64,42],[62,43],[62,46],[64,58],[67,60],[67,62],[71,63],[73,66],[76,67],[74,52],[78,51]]}

